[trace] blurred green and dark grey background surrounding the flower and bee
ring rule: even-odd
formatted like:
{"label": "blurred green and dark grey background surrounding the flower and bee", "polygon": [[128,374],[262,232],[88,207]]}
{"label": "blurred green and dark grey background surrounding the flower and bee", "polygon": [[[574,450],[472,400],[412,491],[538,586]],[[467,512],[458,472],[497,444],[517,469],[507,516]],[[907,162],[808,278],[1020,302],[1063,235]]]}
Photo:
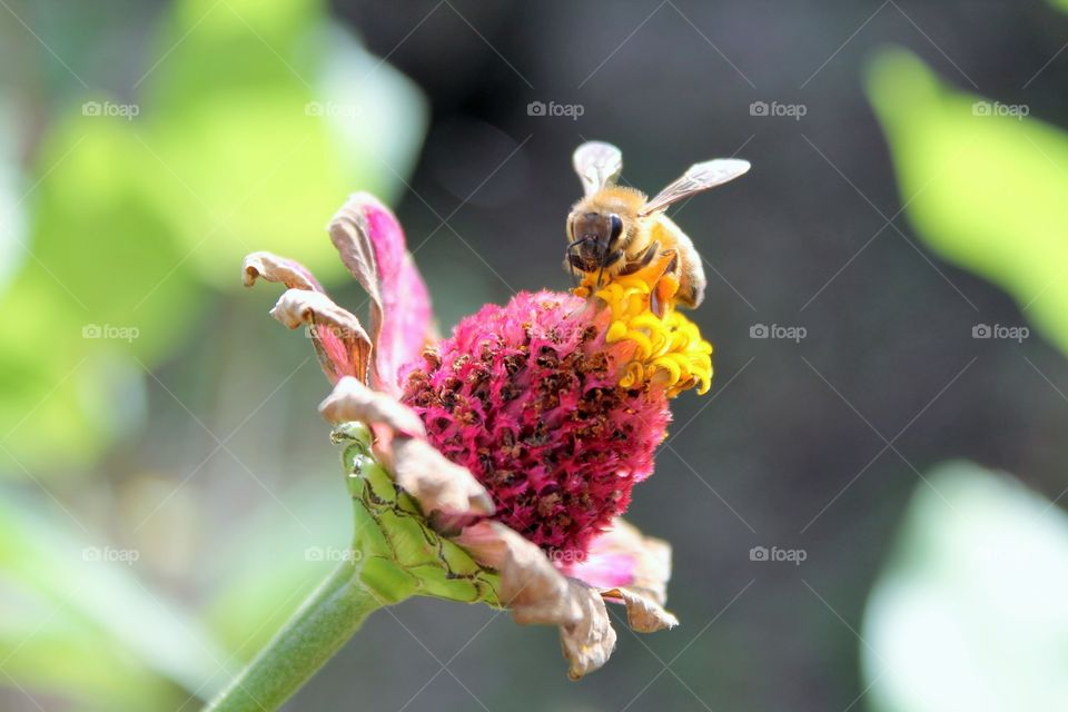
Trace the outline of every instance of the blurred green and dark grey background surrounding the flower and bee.
{"label": "blurred green and dark grey background surrounding the flower and bee", "polygon": [[286,709],[1061,709],[1066,9],[0,0],[0,708],[196,710],[344,550],[244,254],[355,307],[323,226],[372,190],[447,330],[567,286],[599,138],[649,191],[753,164],[672,212],[716,377],[630,517],[683,624],[571,683],[554,631],[411,601]]}

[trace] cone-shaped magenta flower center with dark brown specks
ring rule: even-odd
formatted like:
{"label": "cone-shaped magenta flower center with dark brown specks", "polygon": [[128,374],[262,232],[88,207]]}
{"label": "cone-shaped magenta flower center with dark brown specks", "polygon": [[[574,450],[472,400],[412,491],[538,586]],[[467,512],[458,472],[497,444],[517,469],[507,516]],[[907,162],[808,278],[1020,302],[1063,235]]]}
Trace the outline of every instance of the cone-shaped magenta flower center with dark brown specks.
{"label": "cone-shaped magenta flower center with dark brown specks", "polygon": [[[670,417],[666,380],[630,382],[612,315],[570,294],[520,294],[457,325],[402,377],[427,437],[490,491],[504,522],[561,563],[652,473]],[[651,352],[652,353],[652,352]]]}

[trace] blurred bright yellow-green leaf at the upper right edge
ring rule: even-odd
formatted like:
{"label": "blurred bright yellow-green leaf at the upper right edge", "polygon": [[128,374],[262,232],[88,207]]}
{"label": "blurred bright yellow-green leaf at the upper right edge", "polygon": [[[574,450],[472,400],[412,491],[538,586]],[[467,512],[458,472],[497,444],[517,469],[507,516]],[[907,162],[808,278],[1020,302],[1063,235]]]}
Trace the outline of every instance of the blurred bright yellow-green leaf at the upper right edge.
{"label": "blurred bright yellow-green leaf at the upper right edge", "polygon": [[902,50],[871,65],[868,92],[920,237],[1006,289],[1068,353],[1068,135],[943,85]]}

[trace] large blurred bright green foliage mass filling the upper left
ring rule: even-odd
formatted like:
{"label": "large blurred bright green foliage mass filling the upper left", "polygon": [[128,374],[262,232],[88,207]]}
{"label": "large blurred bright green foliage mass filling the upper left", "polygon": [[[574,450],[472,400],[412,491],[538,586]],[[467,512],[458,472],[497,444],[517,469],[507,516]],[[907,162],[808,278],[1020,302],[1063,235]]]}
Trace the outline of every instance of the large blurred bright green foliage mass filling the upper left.
{"label": "large blurred bright green foliage mass filling the upper left", "polygon": [[131,103],[72,98],[36,154],[0,294],[18,335],[0,343],[6,474],[78,474],[129,433],[142,369],[239,285],[245,254],[340,277],[316,226],[356,187],[397,195],[417,155],[422,95],[322,2],[185,0],[154,46]]}

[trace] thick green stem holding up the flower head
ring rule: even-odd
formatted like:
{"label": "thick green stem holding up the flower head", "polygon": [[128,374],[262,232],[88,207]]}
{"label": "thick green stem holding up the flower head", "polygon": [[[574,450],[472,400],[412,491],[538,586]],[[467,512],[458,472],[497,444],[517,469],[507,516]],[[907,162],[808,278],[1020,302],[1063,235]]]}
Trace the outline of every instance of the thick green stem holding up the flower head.
{"label": "thick green stem holding up the flower head", "polygon": [[382,607],[359,580],[359,565],[344,562],[204,712],[277,710]]}

